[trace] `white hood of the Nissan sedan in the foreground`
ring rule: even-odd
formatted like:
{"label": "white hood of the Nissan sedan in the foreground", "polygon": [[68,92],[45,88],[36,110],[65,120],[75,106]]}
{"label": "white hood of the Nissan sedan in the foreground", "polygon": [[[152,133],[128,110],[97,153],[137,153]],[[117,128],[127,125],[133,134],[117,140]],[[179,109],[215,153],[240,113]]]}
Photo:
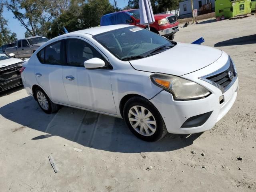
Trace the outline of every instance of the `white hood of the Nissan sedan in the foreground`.
{"label": "white hood of the Nissan sedan in the foreground", "polygon": [[220,58],[222,51],[208,46],[177,43],[159,54],[131,60],[136,70],[182,76],[200,70]]}

